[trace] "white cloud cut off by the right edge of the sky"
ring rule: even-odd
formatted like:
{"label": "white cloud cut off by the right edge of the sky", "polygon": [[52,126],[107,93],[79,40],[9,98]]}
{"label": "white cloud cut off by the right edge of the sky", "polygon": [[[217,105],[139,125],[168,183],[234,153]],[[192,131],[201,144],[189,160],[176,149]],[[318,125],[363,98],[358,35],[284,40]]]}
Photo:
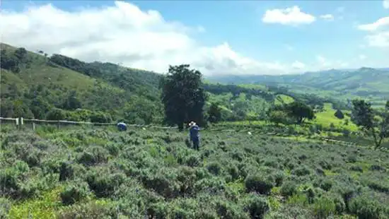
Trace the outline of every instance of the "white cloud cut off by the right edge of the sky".
{"label": "white cloud cut off by the right edge of the sky", "polygon": [[358,29],[370,32],[365,37],[368,46],[389,48],[389,16],[373,23],[359,25]]}

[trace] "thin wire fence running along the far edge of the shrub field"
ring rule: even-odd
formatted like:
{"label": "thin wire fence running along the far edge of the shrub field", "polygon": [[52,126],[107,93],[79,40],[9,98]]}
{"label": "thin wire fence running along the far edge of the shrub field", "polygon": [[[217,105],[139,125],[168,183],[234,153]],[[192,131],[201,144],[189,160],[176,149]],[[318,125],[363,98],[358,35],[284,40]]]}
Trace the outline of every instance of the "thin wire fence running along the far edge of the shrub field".
{"label": "thin wire fence running along the far edge of the shrub field", "polygon": [[[18,118],[5,118],[0,117],[0,125],[13,124],[17,129],[23,129],[23,127],[28,127],[30,129],[37,129],[38,126],[57,126],[57,129],[69,127],[69,126],[116,126],[117,123],[99,123],[99,122],[75,122],[75,121],[67,121],[67,120],[44,120],[44,119],[24,119],[23,117]],[[127,124],[129,127],[139,127],[139,128],[151,128],[151,129],[178,129],[177,126],[153,126],[153,125],[141,125],[141,124]],[[275,136],[275,137],[307,137],[301,136],[299,134],[279,134],[279,133],[268,133],[264,131],[249,131],[249,130],[235,130],[235,129],[207,129],[207,131],[230,131],[230,132],[250,132],[250,134],[259,134],[264,136]],[[308,136],[308,139],[325,141],[329,144],[339,144],[343,146],[356,146],[357,143],[350,141],[340,141],[332,138],[325,138],[321,136]]]}

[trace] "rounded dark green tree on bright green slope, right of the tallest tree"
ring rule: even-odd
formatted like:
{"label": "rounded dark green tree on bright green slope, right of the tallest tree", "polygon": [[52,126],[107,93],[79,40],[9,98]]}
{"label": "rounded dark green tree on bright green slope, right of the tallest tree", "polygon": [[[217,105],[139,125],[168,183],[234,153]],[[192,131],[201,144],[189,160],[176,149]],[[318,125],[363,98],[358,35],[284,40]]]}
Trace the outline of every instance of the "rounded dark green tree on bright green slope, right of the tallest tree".
{"label": "rounded dark green tree on bright green slope, right of the tallest tree", "polygon": [[311,120],[315,118],[313,109],[303,102],[294,101],[286,105],[285,108],[289,117],[296,119],[297,124],[303,124],[305,119]]}

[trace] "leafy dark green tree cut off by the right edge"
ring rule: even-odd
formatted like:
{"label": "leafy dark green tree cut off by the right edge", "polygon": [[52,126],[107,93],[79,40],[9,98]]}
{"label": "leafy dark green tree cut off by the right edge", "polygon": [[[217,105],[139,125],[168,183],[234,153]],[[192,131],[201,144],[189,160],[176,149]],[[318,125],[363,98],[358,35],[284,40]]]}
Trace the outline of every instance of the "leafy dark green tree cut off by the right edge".
{"label": "leafy dark green tree cut off by the right edge", "polygon": [[366,134],[373,136],[376,148],[389,136],[389,100],[383,110],[374,111],[365,100],[352,100],[352,122],[360,126]]}

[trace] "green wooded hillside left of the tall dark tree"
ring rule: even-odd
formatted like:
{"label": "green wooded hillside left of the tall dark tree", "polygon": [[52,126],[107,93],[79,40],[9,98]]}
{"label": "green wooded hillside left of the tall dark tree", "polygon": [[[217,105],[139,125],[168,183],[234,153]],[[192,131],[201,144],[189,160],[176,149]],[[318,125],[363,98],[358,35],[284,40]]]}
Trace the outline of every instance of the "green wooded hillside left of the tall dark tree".
{"label": "green wooded hillside left of the tall dark tree", "polygon": [[43,119],[54,109],[82,108],[112,119],[161,122],[160,78],[149,71],[59,54],[47,57],[1,44],[1,116]]}

